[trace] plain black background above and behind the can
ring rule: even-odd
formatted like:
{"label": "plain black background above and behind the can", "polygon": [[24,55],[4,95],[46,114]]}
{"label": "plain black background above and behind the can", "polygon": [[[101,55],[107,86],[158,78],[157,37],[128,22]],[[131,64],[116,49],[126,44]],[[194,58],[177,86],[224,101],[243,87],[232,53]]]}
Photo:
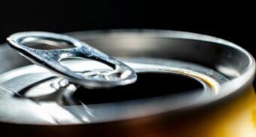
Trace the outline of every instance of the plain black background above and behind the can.
{"label": "plain black background above and behind the can", "polygon": [[172,29],[224,38],[253,56],[255,9],[243,2],[8,1],[0,2],[0,42],[20,31]]}

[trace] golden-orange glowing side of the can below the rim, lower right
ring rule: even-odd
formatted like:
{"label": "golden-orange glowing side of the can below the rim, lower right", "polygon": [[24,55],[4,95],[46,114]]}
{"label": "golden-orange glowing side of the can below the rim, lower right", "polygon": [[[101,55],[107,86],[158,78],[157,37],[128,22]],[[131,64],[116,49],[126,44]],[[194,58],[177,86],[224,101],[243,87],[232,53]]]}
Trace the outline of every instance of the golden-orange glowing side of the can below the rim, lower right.
{"label": "golden-orange glowing side of the can below the rim, lower right", "polygon": [[250,87],[239,96],[210,108],[152,121],[154,118],[130,123],[130,136],[256,137],[255,92]]}

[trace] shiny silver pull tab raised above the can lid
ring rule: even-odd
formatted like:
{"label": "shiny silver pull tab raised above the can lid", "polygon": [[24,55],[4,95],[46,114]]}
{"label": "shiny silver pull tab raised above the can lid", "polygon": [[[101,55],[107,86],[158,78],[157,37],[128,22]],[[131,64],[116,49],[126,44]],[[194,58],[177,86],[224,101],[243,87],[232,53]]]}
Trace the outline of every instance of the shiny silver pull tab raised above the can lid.
{"label": "shiny silver pull tab raised above the can lid", "polygon": [[[7,40],[12,48],[30,61],[55,72],[63,78],[69,79],[69,81],[81,84],[84,87],[115,87],[132,84],[137,79],[136,72],[128,65],[90,47],[90,45],[83,41],[79,41],[67,35],[59,35],[51,32],[18,32],[9,36]],[[29,43],[47,44],[49,41],[59,45],[66,42],[75,47],[57,50],[38,50],[24,45]],[[59,63],[60,60],[69,57],[93,59],[110,66],[114,70],[109,72],[93,71],[80,75]]]}

